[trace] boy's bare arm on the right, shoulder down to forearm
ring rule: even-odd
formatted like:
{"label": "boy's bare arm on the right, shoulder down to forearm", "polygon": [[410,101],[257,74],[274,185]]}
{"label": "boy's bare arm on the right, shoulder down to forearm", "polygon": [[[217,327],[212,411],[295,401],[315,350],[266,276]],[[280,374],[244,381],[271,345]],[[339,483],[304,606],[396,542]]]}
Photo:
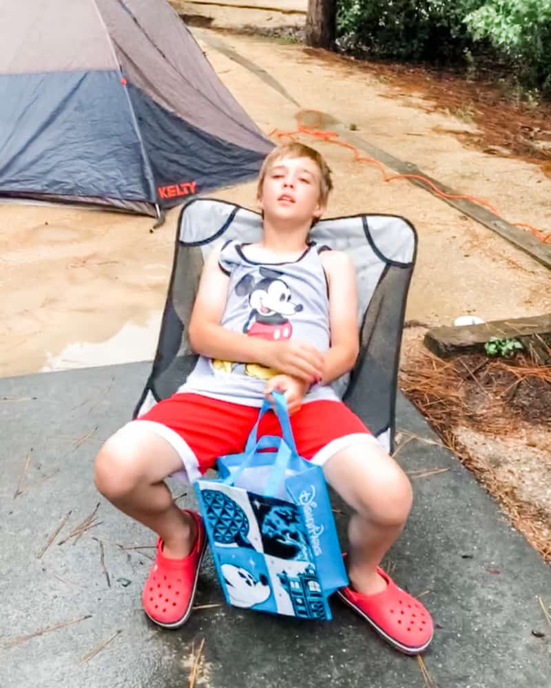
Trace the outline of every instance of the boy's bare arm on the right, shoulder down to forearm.
{"label": "boy's bare arm on the right, shoulder down to forearm", "polygon": [[360,349],[357,327],[357,281],[351,259],[342,251],[320,255],[329,283],[331,346],[324,358],[322,384],[327,385],[354,367]]}

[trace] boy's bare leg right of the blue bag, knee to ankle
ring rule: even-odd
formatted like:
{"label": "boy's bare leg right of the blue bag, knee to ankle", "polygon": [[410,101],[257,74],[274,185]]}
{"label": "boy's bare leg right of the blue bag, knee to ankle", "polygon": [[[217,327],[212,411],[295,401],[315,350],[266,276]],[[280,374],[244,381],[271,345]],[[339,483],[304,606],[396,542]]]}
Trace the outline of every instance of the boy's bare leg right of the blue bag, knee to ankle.
{"label": "boy's bare leg right of the blue bag, knee to ankle", "polygon": [[337,452],[324,464],[324,473],[355,511],[346,555],[351,586],[363,594],[380,592],[386,583],[376,567],[402,531],[412,504],[408,477],[371,440]]}

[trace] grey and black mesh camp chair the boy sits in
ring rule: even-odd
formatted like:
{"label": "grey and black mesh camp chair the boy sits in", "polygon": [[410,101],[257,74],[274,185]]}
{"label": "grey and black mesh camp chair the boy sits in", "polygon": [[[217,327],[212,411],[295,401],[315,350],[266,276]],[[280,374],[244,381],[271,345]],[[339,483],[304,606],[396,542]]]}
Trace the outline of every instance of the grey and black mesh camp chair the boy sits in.
{"label": "grey and black mesh camp chair the boy sits in", "polygon": [[[218,239],[258,241],[259,213],[196,199],[180,213],[174,265],[152,372],[134,418],[183,384],[196,362],[188,340],[191,309],[205,257]],[[344,250],[357,271],[360,354],[333,387],[387,451],[393,450],[399,349],[417,235],[395,215],[353,215],[318,222],[311,239]]]}

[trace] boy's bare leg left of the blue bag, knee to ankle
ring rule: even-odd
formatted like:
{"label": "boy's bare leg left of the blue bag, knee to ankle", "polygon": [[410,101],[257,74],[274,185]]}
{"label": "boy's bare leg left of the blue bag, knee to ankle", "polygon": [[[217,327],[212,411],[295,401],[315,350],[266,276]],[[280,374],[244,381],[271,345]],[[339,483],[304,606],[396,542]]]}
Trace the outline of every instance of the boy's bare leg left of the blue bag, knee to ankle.
{"label": "boy's bare leg left of the blue bag, knee to ankle", "polygon": [[98,491],[125,514],[154,530],[172,559],[187,557],[197,526],[172,499],[164,480],[182,460],[162,437],[138,424],[123,427],[99,451],[94,465]]}

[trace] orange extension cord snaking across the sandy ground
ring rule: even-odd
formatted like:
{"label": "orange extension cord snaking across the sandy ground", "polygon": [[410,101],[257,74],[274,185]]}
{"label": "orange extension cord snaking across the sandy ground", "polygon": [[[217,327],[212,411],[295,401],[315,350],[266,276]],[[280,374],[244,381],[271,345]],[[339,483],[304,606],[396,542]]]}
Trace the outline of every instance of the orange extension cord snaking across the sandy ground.
{"label": "orange extension cord snaking across the sandy ground", "polygon": [[[392,182],[393,180],[396,179],[417,179],[427,186],[430,187],[434,191],[434,193],[438,196],[441,196],[442,198],[453,198],[453,199],[464,199],[468,201],[472,201],[473,203],[476,203],[479,206],[484,206],[485,208],[488,208],[490,213],[493,213],[497,217],[501,217],[499,212],[494,208],[494,206],[490,205],[487,201],[485,201],[483,198],[477,198],[476,196],[469,196],[469,195],[455,195],[455,194],[449,194],[445,193],[444,191],[441,191],[441,189],[438,189],[433,182],[428,180],[426,177],[423,177],[422,175],[418,174],[395,174],[392,176],[388,176],[386,174],[386,170],[384,168],[384,165],[379,162],[379,160],[375,160],[375,158],[367,158],[364,155],[361,155],[360,151],[357,149],[357,147],[353,146],[353,144],[348,143],[346,141],[343,141],[339,138],[339,134],[336,131],[324,131],[323,129],[318,129],[315,125],[310,125],[306,126],[302,123],[302,118],[305,114],[308,115],[315,115],[318,117],[318,121],[321,122],[322,120],[322,114],[318,110],[301,110],[297,114],[297,124],[298,124],[298,129],[296,131],[279,131],[278,129],[273,129],[269,133],[269,136],[276,136],[278,139],[281,138],[290,138],[291,140],[295,140],[295,136],[300,133],[307,134],[308,136],[313,136],[314,138],[321,139],[322,141],[327,141],[329,143],[335,143],[337,146],[342,146],[343,148],[347,148],[351,150],[354,154],[354,161],[355,162],[366,162],[369,164],[376,165],[382,174],[383,180],[385,182]],[[544,244],[546,241],[551,239],[551,232],[545,234],[543,231],[537,229],[536,227],[532,226],[531,224],[525,224],[523,222],[516,222],[513,225],[514,227],[523,227],[525,229],[528,229],[534,237],[537,237],[540,241],[542,241]]]}

